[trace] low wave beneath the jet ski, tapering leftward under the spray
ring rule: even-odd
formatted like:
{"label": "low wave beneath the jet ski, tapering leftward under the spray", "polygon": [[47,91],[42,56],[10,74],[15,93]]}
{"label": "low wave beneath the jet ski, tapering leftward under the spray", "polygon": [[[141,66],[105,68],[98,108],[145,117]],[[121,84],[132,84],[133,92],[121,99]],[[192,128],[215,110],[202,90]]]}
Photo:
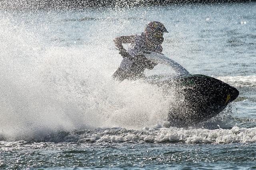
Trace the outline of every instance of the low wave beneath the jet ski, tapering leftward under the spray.
{"label": "low wave beneath the jet ski, tapering leftward under the spray", "polygon": [[232,129],[183,129],[164,128],[161,125],[145,127],[140,130],[124,128],[59,131],[30,140],[30,142],[76,142],[76,143],[189,143],[189,144],[223,144],[254,143],[256,127]]}

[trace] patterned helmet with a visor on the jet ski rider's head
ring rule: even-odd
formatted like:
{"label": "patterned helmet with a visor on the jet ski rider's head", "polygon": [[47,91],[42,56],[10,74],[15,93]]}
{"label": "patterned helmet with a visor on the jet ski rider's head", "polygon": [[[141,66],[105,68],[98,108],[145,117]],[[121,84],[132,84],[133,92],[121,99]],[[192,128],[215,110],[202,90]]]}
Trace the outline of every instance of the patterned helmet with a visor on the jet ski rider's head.
{"label": "patterned helmet with a visor on the jet ski rider's head", "polygon": [[164,33],[168,33],[168,31],[161,22],[151,21],[145,26],[145,33],[152,43],[161,44],[164,41]]}

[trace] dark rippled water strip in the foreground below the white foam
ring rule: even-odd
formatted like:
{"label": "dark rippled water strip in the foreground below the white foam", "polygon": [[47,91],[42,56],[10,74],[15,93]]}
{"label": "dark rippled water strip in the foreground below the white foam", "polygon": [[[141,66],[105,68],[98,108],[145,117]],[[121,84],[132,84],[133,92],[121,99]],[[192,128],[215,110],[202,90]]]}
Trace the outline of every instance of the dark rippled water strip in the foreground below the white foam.
{"label": "dark rippled water strip in the foreground below the white foam", "polygon": [[[11,148],[11,149],[10,149]],[[254,169],[255,145],[8,143],[2,168]],[[18,155],[17,155],[18,152]]]}

